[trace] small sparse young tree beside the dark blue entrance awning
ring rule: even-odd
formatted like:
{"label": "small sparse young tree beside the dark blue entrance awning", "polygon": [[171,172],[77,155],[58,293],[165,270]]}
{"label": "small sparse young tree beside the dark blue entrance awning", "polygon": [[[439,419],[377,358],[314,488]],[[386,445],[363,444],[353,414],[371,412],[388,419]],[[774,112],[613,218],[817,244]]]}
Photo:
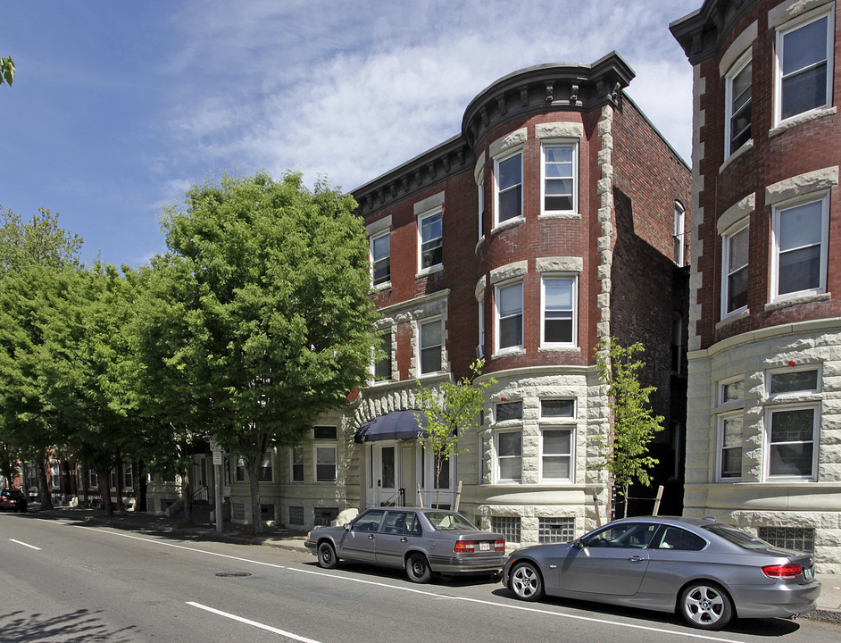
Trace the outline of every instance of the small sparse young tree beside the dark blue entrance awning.
{"label": "small sparse young tree beside the dark blue entrance awning", "polygon": [[479,413],[485,405],[485,389],[493,386],[496,380],[476,382],[485,365],[483,360],[470,364],[472,377],[462,377],[455,382],[443,382],[437,388],[423,388],[420,381],[415,390],[415,401],[420,413],[415,413],[419,424],[426,422],[425,435],[420,445],[435,463],[435,504],[438,505],[438,489],[441,488],[441,472],[445,463],[454,455],[460,455],[466,449],[459,448],[459,440],[464,431],[479,428]]}

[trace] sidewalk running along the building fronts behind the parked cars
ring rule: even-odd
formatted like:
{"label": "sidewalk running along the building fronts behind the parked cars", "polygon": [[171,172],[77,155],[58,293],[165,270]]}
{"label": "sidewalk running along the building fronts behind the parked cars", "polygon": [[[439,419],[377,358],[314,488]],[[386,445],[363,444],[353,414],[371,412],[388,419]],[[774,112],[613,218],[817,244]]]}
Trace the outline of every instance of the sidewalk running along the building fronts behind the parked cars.
{"label": "sidewalk running along the building fronts behind the parked cars", "polygon": [[[37,508],[30,512],[37,512],[42,518],[61,518],[62,520],[88,522],[109,525],[118,529],[140,530],[157,533],[168,533],[186,539],[222,540],[233,543],[278,547],[289,551],[304,552],[306,530],[287,529],[285,527],[264,527],[259,534],[251,532],[249,525],[231,524],[226,522],[224,530],[216,530],[215,523],[184,524],[179,516],[169,518],[140,512],[114,512],[105,514],[102,509],[85,509],[83,507],[55,507],[46,511]],[[841,623],[841,574],[815,574],[820,580],[820,597],[818,609],[812,614],[804,614],[804,619],[813,621]]]}

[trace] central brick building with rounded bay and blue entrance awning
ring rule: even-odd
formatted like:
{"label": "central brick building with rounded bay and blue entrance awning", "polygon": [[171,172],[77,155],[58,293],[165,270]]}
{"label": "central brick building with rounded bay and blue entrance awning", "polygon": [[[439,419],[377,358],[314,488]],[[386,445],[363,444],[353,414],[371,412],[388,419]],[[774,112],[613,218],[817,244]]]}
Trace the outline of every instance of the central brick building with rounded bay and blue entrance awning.
{"label": "central brick building with rounded bay and blue entrance awning", "polygon": [[[595,526],[592,494],[604,505],[607,490],[591,438],[607,408],[594,347],[610,335],[645,344],[667,418],[658,482],[679,513],[691,173],[624,95],[633,77],[615,53],[516,71],[476,96],[459,135],[353,191],[387,358],[312,444],[267,461],[267,518],[454,505],[461,483],[462,512],[512,543]],[[498,384],[434,489],[416,383],[468,375],[477,355]],[[247,485],[229,491],[246,520]]]}

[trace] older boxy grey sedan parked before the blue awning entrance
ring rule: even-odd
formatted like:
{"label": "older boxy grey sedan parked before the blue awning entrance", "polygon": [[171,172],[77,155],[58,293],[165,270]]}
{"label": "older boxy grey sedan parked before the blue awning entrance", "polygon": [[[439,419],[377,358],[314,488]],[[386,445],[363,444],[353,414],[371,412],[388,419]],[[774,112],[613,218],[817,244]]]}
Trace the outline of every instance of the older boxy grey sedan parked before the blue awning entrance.
{"label": "older boxy grey sedan parked before the blue awning entrance", "polygon": [[479,530],[463,514],[443,509],[368,509],[342,527],[307,534],[304,546],[324,569],[338,561],[402,567],[412,582],[433,572],[498,574],[505,562],[502,534]]}

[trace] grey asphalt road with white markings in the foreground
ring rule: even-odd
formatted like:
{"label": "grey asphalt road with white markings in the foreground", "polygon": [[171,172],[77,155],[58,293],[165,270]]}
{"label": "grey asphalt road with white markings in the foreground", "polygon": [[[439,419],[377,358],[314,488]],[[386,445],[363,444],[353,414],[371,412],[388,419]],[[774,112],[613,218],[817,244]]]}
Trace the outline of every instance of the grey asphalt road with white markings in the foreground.
{"label": "grey asphalt road with white markings in the foreground", "polygon": [[837,643],[841,626],[678,617],[581,602],[526,604],[499,584],[343,565],[271,547],[190,541],[0,514],[0,641],[575,641]]}

